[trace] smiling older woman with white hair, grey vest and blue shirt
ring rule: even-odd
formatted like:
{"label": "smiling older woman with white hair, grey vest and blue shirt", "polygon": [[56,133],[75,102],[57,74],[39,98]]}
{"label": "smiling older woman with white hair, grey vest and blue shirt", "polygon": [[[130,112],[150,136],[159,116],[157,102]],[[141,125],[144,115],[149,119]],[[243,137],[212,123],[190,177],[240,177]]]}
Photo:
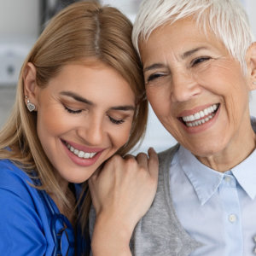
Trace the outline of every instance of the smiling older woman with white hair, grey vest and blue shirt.
{"label": "smiling older woman with white hair, grey vest and blue shirt", "polygon": [[[252,255],[256,235],[256,44],[236,0],[145,0],[133,28],[148,100],[177,146],[134,255]],[[157,131],[156,131],[157,132]]]}

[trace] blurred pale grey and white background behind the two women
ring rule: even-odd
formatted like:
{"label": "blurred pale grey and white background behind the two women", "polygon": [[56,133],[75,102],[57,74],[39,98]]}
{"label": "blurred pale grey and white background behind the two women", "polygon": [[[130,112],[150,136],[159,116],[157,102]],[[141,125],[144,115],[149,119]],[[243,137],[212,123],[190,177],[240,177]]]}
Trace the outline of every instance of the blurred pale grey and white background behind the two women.
{"label": "blurred pale grey and white background behind the two women", "polygon": [[[0,127],[7,119],[15,101],[15,88],[20,67],[47,20],[63,7],[76,0],[0,0]],[[99,0],[112,5],[134,21],[141,0]],[[256,1],[241,0],[256,35]],[[256,116],[256,92],[250,102],[251,113]],[[153,146],[156,151],[171,147],[176,141],[160,125],[150,108],[148,130],[137,151]]]}

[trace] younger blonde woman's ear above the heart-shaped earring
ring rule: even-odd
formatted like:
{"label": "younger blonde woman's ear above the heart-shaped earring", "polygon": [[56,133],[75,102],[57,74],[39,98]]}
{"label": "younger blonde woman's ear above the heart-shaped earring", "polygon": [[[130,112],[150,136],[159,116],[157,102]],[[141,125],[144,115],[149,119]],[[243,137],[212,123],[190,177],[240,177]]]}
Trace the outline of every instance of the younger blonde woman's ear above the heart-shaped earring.
{"label": "younger blonde woman's ear above the heart-shaped earring", "polygon": [[28,62],[22,75],[24,96],[27,96],[27,99],[24,97],[25,103],[29,100],[34,105],[38,105],[38,84],[36,78],[37,69],[31,62]]}

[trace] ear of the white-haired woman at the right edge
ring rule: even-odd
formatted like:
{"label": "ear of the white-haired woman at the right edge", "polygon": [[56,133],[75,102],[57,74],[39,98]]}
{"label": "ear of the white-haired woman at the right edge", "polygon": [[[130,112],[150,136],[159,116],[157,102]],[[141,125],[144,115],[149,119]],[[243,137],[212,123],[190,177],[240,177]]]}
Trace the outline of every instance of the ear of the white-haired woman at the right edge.
{"label": "ear of the white-haired woman at the right edge", "polygon": [[250,90],[256,90],[256,42],[250,45],[246,55]]}

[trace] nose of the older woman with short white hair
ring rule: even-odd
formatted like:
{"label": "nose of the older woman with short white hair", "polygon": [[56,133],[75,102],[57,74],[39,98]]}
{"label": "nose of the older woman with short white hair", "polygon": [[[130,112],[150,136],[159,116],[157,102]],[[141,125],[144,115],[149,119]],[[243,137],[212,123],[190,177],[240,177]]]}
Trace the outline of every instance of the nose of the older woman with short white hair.
{"label": "nose of the older woman with short white hair", "polygon": [[186,102],[201,93],[201,85],[188,73],[172,75],[172,102]]}

